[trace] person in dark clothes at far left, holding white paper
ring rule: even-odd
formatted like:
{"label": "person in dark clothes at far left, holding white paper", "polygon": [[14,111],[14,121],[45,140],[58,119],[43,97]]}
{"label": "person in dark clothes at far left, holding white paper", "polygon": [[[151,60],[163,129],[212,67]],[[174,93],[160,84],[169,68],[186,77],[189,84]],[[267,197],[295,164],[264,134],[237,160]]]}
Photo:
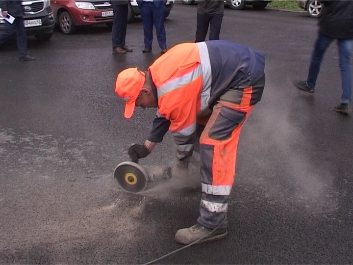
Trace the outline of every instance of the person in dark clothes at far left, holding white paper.
{"label": "person in dark clothes at far left, holding white paper", "polygon": [[17,48],[19,52],[19,60],[34,61],[36,58],[29,56],[27,53],[27,35],[23,22],[23,8],[20,0],[0,0],[1,15],[6,17],[10,14],[15,21],[10,24],[5,23],[5,27],[0,31],[0,45],[6,42],[16,32]]}

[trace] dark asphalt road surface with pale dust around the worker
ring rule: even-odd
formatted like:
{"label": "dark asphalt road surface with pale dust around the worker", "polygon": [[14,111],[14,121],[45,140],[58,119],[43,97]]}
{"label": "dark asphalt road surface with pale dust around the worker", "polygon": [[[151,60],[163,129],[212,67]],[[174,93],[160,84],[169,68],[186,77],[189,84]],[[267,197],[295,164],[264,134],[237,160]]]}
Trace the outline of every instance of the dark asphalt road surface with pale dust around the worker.
{"label": "dark asphalt road surface with pale dust around the worker", "polygon": [[[305,79],[315,19],[275,10],[225,10],[221,38],[266,53],[263,99],[244,126],[226,239],[192,246],[160,264],[352,264],[353,122],[333,110],[341,95],[337,46],[326,54],[317,91]],[[169,47],[194,41],[196,6],[177,3],[166,20]],[[155,110],[122,116],[117,73],[146,67],[141,19],[129,24],[133,53],[111,53],[103,25],[75,35],[0,48],[0,263],[143,264],[180,247],[179,228],[196,222],[193,188],[118,188],[112,172],[141,143]],[[170,134],[142,165],[174,159]]]}

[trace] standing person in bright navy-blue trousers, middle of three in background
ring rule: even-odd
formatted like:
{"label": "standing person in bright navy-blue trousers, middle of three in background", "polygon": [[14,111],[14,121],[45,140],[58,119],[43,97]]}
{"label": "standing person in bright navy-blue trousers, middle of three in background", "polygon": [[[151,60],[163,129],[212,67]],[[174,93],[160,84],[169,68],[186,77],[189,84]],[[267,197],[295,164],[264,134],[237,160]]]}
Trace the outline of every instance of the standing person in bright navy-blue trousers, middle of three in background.
{"label": "standing person in bright navy-blue trousers, middle of three in background", "polygon": [[144,28],[145,48],[143,53],[152,51],[153,25],[156,29],[158,45],[162,53],[167,52],[167,36],[164,28],[164,16],[167,0],[138,0]]}

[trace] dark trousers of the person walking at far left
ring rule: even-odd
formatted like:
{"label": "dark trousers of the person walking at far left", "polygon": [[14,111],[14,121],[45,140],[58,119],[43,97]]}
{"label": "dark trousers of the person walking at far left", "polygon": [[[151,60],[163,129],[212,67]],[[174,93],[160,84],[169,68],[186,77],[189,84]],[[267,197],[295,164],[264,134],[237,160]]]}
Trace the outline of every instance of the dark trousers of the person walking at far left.
{"label": "dark trousers of the person walking at far left", "polygon": [[5,23],[5,27],[0,31],[0,45],[6,42],[16,32],[18,56],[23,57],[27,55],[27,35],[23,22],[23,17],[16,17],[15,21]]}

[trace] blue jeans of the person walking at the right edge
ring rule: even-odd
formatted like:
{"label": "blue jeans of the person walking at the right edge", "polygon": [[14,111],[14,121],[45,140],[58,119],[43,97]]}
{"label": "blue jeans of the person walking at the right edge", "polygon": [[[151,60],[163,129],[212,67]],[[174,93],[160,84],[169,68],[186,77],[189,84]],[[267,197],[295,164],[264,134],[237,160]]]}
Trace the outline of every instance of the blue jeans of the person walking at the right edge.
{"label": "blue jeans of the person walking at the right edge", "polygon": [[[314,50],[311,55],[307,85],[315,88],[316,79],[320,72],[322,58],[334,39],[328,36],[318,34],[315,41]],[[338,57],[342,79],[342,97],[341,103],[350,103],[352,101],[352,70],[350,58],[352,56],[353,39],[337,39]]]}

